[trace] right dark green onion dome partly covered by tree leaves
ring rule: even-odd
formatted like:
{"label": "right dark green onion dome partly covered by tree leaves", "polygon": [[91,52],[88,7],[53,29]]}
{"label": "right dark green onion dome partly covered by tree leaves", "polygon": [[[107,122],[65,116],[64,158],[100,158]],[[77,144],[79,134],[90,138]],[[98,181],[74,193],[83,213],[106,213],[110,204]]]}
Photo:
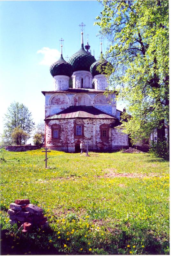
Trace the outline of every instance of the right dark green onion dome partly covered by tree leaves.
{"label": "right dark green onion dome partly covered by tree leaves", "polygon": [[[110,62],[105,60],[103,57],[100,57],[100,59],[97,60],[96,62],[94,62],[90,67],[90,72],[92,73],[92,76],[101,75],[101,74],[105,75],[106,74],[105,68],[107,65],[109,65],[109,69],[113,68],[113,66]],[[98,66],[100,66],[100,68],[101,68],[100,72],[97,70]]]}

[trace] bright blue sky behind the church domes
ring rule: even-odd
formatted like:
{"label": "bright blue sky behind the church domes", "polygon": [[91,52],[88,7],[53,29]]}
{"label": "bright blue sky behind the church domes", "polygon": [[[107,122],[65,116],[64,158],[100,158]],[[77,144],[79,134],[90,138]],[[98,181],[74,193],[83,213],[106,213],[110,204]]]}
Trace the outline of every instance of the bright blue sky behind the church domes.
{"label": "bright blue sky behind the church domes", "polygon": [[[91,52],[100,55],[99,26],[95,18],[103,10],[98,1],[0,1],[0,133],[3,117],[14,101],[23,103],[37,124],[44,119],[45,97],[54,90],[49,68],[60,57],[77,52],[87,34]],[[107,47],[103,39],[103,52]],[[122,106],[118,109],[122,110]]]}

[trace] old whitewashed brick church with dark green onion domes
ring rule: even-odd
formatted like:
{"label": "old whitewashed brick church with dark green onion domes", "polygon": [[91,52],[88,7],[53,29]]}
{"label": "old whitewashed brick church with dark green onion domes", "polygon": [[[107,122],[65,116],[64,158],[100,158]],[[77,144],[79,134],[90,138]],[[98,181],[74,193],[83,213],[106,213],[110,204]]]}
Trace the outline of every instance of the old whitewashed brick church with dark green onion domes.
{"label": "old whitewashed brick church with dark green onion domes", "polygon": [[73,153],[80,152],[81,141],[84,145],[88,143],[89,151],[128,148],[128,135],[117,129],[121,111],[116,109],[116,95],[104,95],[108,81],[98,66],[108,65],[108,61],[103,59],[102,46],[101,57],[96,61],[88,42],[84,48],[81,34],[79,51],[67,62],[61,45],[61,57],[50,67],[54,89],[42,92],[45,146]]}

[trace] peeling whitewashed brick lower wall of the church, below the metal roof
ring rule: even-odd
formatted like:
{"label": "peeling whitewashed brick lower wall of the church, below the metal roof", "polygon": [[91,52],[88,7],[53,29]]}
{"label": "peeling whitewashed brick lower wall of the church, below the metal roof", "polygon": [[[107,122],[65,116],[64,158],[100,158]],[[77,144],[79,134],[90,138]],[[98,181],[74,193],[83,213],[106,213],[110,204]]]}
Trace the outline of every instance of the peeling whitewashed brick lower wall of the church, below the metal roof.
{"label": "peeling whitewashed brick lower wall of the church, below the metal roof", "polygon": [[[62,150],[66,152],[75,152],[75,147],[82,140],[84,144],[89,144],[89,150],[93,151],[110,151],[120,148],[128,148],[128,135],[118,132],[116,128],[110,128],[112,123],[111,119],[100,118],[71,118],[71,119],[58,119],[46,122],[46,147]],[[52,125],[59,124],[60,139],[53,138]],[[100,125],[106,124],[109,127],[108,139],[101,138]],[[74,135],[76,125],[84,126],[84,135]]]}

